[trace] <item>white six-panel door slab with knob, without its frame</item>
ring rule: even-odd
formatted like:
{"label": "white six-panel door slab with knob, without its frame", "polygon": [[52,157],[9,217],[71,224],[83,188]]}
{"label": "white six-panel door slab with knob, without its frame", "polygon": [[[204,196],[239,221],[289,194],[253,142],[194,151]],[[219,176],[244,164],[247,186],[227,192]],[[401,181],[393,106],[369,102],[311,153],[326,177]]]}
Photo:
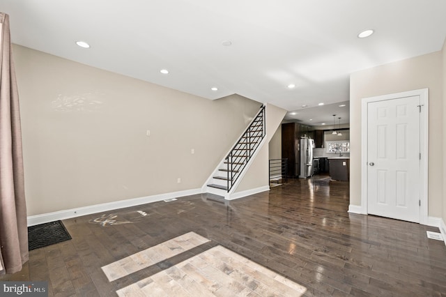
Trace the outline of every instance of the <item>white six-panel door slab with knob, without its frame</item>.
{"label": "white six-panel door slab with knob, without its frame", "polygon": [[368,213],[420,222],[420,96],[367,103]]}

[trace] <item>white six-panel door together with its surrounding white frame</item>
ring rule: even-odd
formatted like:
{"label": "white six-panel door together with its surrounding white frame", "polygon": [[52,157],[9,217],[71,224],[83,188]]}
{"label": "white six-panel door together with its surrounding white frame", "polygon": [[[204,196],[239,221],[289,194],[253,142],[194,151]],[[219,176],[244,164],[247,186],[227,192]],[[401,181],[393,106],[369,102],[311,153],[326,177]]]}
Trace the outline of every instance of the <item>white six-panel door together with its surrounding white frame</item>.
{"label": "white six-panel door together with its surrounding white frame", "polygon": [[426,224],[428,90],[362,100],[364,213]]}

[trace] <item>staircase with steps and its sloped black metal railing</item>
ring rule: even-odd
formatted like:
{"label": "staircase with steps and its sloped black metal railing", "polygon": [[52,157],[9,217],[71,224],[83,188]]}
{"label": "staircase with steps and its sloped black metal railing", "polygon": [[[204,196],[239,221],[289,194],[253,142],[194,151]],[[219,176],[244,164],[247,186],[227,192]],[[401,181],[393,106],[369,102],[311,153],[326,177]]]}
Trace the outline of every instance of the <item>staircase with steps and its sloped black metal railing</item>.
{"label": "staircase with steps and its sloped black metal railing", "polygon": [[226,197],[247,169],[256,149],[266,135],[265,106],[262,106],[238,142],[209,178],[206,192]]}

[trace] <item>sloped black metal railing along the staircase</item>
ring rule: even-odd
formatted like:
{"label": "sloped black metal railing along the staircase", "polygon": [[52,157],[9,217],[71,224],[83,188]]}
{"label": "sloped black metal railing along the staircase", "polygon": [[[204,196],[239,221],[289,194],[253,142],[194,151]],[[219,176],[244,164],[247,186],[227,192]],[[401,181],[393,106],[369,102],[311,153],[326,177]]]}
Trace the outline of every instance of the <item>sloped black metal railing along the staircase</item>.
{"label": "sloped black metal railing along the staircase", "polygon": [[263,105],[251,122],[249,127],[245,130],[243,135],[238,139],[238,142],[231,149],[231,152],[224,159],[227,169],[220,169],[227,172],[227,192],[236,183],[238,177],[245,169],[247,163],[254,155],[256,148],[259,147],[260,142],[266,135],[266,121],[265,121],[265,106]]}

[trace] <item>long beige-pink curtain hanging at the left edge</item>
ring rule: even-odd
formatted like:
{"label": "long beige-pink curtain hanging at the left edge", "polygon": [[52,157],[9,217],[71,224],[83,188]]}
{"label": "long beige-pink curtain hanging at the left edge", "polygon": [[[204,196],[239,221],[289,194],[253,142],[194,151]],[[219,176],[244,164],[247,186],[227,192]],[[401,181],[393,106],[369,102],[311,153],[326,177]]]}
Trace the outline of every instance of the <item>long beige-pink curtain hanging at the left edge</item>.
{"label": "long beige-pink curtain hanging at the left edge", "polygon": [[19,96],[9,33],[0,13],[0,275],[22,270],[28,261]]}

